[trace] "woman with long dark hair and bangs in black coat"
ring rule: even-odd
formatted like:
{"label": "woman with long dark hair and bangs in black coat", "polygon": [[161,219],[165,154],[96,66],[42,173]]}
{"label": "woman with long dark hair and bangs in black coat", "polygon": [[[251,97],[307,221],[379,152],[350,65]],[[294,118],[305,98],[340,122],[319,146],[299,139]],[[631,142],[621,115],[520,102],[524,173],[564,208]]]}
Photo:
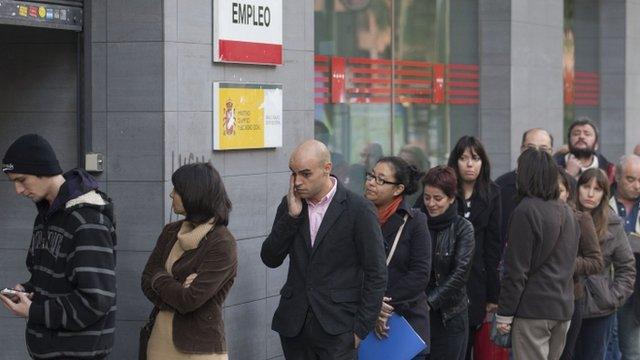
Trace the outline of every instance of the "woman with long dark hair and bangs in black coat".
{"label": "woman with long dark hair and bangs in black coat", "polygon": [[491,165],[484,146],[473,136],[463,136],[449,155],[449,166],[458,178],[458,214],[473,224],[475,253],[467,282],[469,293],[469,345],[487,313],[498,308],[502,256],[500,188],[491,180]]}

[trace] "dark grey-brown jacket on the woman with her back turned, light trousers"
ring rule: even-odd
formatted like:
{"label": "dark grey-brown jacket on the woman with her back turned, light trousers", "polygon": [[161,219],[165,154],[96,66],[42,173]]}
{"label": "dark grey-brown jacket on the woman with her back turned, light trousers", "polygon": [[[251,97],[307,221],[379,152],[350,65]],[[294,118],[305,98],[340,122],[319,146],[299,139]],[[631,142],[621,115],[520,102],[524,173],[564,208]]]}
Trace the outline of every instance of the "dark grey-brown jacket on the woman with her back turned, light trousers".
{"label": "dark grey-brown jacket on the woman with her back turned, light trousers", "polygon": [[580,228],[560,200],[524,198],[513,211],[498,315],[566,321]]}

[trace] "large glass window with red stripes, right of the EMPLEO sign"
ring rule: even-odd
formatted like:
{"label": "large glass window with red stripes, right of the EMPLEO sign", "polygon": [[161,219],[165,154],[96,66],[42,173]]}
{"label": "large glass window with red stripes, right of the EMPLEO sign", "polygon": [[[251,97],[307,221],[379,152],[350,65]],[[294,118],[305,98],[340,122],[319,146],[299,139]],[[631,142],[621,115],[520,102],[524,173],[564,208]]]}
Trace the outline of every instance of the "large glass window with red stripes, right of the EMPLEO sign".
{"label": "large glass window with red stripes, right of the EMPLEO sign", "polygon": [[470,0],[315,0],[315,136],[349,188],[381,156],[427,170],[477,133],[477,16]]}

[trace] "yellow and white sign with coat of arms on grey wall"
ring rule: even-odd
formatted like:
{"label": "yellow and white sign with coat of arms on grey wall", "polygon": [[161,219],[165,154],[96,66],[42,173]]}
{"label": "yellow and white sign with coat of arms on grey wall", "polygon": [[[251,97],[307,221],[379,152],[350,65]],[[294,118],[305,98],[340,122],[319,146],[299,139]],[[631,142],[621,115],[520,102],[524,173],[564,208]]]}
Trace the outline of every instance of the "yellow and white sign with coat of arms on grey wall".
{"label": "yellow and white sign with coat of arms on grey wall", "polygon": [[[274,90],[280,94],[280,104],[272,100]],[[273,147],[273,141],[270,141],[274,132],[273,104],[279,108],[275,110],[281,113],[281,93],[282,87],[277,85],[214,83],[213,148],[233,150]],[[281,129],[281,115],[276,118]],[[266,119],[269,119],[268,123]]]}

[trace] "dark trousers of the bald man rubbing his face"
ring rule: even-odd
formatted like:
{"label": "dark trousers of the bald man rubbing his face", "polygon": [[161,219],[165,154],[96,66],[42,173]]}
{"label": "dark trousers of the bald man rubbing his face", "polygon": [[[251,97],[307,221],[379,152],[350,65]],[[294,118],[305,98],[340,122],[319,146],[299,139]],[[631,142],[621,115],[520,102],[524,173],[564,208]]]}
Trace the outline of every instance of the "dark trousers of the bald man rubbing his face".
{"label": "dark trousers of the bald man rubbing his face", "polygon": [[288,360],[356,360],[353,332],[330,335],[322,328],[311,308],[300,334],[280,336],[282,351]]}

